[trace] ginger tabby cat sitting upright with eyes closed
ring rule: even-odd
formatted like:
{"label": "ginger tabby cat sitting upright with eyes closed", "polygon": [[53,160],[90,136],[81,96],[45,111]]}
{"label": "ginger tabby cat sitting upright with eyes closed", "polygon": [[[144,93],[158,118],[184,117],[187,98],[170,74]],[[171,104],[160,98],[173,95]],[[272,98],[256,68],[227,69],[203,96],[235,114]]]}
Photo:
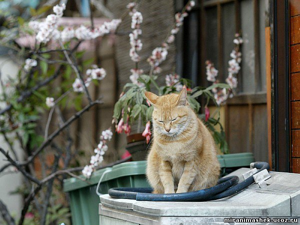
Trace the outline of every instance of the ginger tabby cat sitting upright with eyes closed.
{"label": "ginger tabby cat sitting upright with eyes closed", "polygon": [[154,107],[153,143],[146,175],[153,193],[182,193],[217,183],[220,165],[214,140],[189,107],[186,89],[157,96],[145,92]]}

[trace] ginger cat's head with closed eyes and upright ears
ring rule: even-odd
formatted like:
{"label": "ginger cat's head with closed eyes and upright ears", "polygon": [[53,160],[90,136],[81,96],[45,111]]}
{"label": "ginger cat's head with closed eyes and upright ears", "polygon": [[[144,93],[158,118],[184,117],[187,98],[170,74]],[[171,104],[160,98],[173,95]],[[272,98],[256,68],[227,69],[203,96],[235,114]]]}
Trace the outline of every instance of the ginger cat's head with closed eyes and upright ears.
{"label": "ginger cat's head with closed eyes and upright ears", "polygon": [[145,92],[145,96],[154,106],[152,122],[156,135],[176,136],[184,132],[190,113],[185,88],[180,94],[159,97]]}

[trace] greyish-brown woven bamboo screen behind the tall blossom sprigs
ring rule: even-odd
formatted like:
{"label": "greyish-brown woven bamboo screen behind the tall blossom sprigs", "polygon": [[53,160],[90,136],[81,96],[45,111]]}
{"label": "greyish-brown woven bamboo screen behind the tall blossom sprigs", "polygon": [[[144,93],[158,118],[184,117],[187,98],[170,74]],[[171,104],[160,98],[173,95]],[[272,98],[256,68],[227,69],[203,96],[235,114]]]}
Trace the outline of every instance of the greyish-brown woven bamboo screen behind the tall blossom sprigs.
{"label": "greyish-brown woven bamboo screen behind the tall blossom sprigs", "polygon": [[[107,7],[114,14],[115,18],[119,18],[125,11],[128,11],[126,5],[129,0],[109,0]],[[141,24],[142,49],[138,52],[141,61],[138,63],[139,68],[147,74],[150,69],[149,63],[146,61],[155,47],[160,47],[161,43],[169,34],[170,27],[174,21],[174,7],[172,0],[140,0],[138,11],[142,13],[143,22]],[[118,32],[123,35],[117,35],[115,41],[115,57],[118,71],[118,91],[120,92],[123,85],[130,81],[130,69],[134,67],[133,61],[129,57],[129,32],[131,24],[131,16],[126,13],[124,19],[118,28]],[[162,72],[158,74],[158,83],[163,84],[166,74],[174,70],[175,65],[175,46],[170,44],[167,59],[161,63]]]}

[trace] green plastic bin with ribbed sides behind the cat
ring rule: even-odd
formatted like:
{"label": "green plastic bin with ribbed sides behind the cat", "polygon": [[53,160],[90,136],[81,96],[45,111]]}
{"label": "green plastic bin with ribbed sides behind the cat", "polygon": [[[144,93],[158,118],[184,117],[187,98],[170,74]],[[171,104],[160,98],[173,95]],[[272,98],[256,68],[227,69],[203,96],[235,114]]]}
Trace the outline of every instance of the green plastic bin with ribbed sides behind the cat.
{"label": "green plastic bin with ribbed sides behind the cat", "polygon": [[[225,175],[227,168],[249,167],[254,161],[250,152],[217,155],[222,173]],[[105,172],[106,171],[106,172]],[[99,224],[98,204],[99,197],[96,194],[96,186],[102,177],[98,191],[102,194],[108,192],[111,187],[149,187],[145,177],[146,161],[123,162],[112,167],[95,171],[88,182],[74,177],[64,180],[63,190],[69,193],[70,208],[73,225]],[[84,178],[81,175],[82,178]]]}

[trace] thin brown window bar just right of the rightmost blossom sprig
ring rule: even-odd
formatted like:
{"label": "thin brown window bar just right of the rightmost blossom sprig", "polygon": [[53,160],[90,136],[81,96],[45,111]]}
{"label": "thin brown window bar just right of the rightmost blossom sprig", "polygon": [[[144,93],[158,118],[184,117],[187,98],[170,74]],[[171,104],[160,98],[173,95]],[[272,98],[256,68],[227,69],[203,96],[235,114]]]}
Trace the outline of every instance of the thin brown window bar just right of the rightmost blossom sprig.
{"label": "thin brown window bar just right of the rightmost blossom sprig", "polygon": [[253,17],[254,17],[254,82],[255,92],[261,90],[260,82],[260,54],[259,54],[259,3],[253,0]]}

